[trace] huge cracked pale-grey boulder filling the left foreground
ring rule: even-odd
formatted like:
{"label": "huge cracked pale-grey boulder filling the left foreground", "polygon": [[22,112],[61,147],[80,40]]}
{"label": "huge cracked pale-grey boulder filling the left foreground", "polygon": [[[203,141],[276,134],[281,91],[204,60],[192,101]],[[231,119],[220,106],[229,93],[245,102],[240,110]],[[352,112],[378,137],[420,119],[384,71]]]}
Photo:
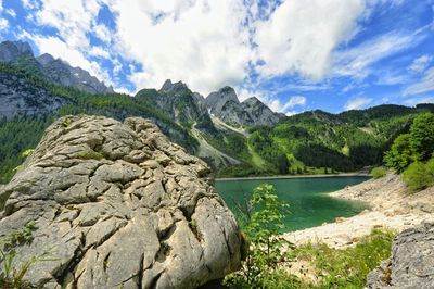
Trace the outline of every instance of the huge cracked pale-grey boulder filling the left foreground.
{"label": "huge cracked pale-grey boulder filling the left foreground", "polygon": [[240,267],[233,214],[206,164],[150,121],[67,116],[0,187],[0,236],[35,221],[15,266],[43,288],[195,288]]}

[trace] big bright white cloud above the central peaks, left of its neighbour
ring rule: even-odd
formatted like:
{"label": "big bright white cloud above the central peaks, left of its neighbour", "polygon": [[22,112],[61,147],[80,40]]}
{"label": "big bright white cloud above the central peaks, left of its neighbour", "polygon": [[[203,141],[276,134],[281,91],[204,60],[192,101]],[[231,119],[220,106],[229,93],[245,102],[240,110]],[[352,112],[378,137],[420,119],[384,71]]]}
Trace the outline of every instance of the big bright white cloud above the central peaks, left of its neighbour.
{"label": "big bright white cloud above the central peaks, left of its neighbour", "polygon": [[252,56],[241,0],[111,0],[110,8],[117,15],[119,53],[143,66],[130,76],[138,89],[170,78],[207,95],[247,75]]}

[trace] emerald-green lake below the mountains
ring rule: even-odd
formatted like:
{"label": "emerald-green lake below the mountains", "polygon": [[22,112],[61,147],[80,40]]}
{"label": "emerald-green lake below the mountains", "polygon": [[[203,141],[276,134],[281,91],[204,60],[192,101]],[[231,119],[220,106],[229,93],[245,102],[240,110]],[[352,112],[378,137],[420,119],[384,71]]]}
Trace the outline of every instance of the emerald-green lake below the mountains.
{"label": "emerald-green lake below the mountains", "polygon": [[290,204],[290,214],[285,217],[285,231],[298,230],[332,223],[336,217],[354,216],[367,204],[329,197],[331,192],[357,185],[369,177],[303,177],[282,179],[238,179],[216,180],[216,190],[228,206],[239,215],[235,202],[242,203],[244,193],[250,198],[254,188],[267,183],[275,186],[280,200]]}

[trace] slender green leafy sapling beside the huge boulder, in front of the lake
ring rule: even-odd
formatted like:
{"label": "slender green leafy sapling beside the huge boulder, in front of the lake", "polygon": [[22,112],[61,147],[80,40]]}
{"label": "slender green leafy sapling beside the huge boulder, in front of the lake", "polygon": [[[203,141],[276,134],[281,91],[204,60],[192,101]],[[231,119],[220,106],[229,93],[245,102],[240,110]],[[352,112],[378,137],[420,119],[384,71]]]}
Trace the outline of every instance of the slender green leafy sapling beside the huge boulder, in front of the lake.
{"label": "slender green leafy sapling beside the huge boulder, in front of the lake", "polygon": [[[248,253],[242,269],[226,278],[228,286],[276,288],[277,280],[283,279],[285,286],[296,284],[294,277],[279,269],[279,265],[290,261],[289,252],[293,248],[292,243],[280,236],[288,208],[286,203],[278,200],[271,185],[263,184],[254,189],[243,222],[250,242]],[[285,288],[291,288],[288,286]]]}

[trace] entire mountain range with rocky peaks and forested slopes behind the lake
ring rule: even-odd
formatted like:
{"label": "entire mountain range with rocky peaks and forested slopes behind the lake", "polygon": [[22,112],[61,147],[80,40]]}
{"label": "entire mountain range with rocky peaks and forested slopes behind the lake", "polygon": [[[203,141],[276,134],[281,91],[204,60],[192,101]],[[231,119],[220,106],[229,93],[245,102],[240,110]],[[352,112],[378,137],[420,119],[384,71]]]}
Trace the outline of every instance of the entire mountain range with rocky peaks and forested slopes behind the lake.
{"label": "entire mountain range with rocky peaks and forested slopes behind the lake", "polygon": [[28,43],[0,43],[0,180],[8,181],[44,128],[67,114],[117,120],[143,116],[173,141],[205,160],[220,176],[350,172],[381,163],[393,139],[414,115],[434,111],[380,105],[330,114],[285,116],[253,97],[242,102],[231,87],[206,98],[188,85],[166,80],[131,97],[115,93],[88,72]]}

